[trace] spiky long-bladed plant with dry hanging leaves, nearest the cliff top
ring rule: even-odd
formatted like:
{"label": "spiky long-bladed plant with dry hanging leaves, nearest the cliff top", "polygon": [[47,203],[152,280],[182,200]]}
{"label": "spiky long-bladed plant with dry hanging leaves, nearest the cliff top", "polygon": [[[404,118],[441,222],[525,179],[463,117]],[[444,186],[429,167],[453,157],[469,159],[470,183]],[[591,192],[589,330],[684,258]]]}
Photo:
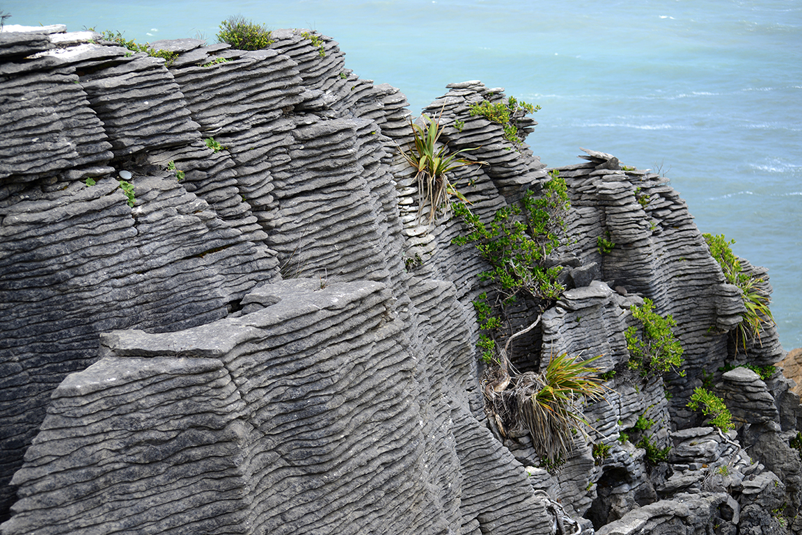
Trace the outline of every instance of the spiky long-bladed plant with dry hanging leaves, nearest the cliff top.
{"label": "spiky long-bladed plant with dry hanging leaves, nearest the cliff top", "polygon": [[460,154],[475,151],[478,147],[449,153],[448,146],[445,143],[439,143],[440,135],[444,130],[440,127],[439,119],[435,121],[423,114],[421,120],[423,126],[410,121],[409,124],[415,139],[407,151],[401,151],[401,154],[411,167],[415,167],[419,195],[418,213],[422,215],[423,208],[428,207],[428,222],[432,223],[441,207],[445,213],[451,210],[451,195],[468,203],[468,199],[465,199],[465,196],[457,191],[454,184],[449,182],[448,171],[467,165],[484,165],[486,162],[458,158]]}

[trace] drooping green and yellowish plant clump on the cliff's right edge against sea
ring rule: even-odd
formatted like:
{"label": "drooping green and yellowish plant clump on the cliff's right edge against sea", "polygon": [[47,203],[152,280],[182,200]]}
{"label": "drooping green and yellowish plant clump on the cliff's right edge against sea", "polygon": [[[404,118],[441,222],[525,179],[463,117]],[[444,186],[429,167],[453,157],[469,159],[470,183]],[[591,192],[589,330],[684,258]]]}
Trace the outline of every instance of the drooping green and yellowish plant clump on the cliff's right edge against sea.
{"label": "drooping green and yellowish plant clump on the cliff's right edge against sea", "polygon": [[735,239],[727,241],[723,234],[715,236],[703,234],[703,237],[707,247],[710,247],[711,256],[721,266],[724,278],[729,284],[735,284],[741,290],[743,306],[747,312],[743,314],[743,319],[735,330],[735,345],[743,346],[743,350],[746,351],[747,340],[759,339],[764,324],[774,323],[774,316],[768,308],[771,300],[768,294],[759,288],[763,279],[741,272],[741,263],[730,247],[735,243]]}

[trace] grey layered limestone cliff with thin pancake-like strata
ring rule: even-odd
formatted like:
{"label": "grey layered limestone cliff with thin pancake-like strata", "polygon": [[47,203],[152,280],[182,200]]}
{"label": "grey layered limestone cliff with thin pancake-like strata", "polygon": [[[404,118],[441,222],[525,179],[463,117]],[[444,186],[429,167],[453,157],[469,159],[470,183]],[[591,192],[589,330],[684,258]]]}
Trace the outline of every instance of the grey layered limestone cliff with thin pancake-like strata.
{"label": "grey layered limestone cliff with thin pancake-like strata", "polygon": [[[577,435],[549,471],[528,435],[488,424],[484,263],[452,244],[459,220],[420,217],[397,89],[302,30],[257,52],[152,43],[170,65],[63,26],[6,30],[3,535],[802,533],[792,381],[723,368],[784,351],[771,326],[746,353],[731,343],[739,290],[664,177],[597,151],[559,170],[567,289],[513,364],[602,355],[606,400],[584,413],[609,455]],[[488,163],[455,173],[472,211],[541,191],[533,151],[468,113],[503,90],[448,89],[426,112]],[[644,298],[677,321],[685,376],[627,371]],[[736,431],[699,427],[686,404],[703,382]]]}

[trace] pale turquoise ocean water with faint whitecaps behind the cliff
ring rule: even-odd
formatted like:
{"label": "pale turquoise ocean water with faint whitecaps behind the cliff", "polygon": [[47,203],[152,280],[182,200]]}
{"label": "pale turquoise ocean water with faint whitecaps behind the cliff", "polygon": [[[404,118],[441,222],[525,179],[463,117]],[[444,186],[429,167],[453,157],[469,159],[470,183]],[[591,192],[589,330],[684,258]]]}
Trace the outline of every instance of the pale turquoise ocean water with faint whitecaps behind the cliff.
{"label": "pale turquoise ocean water with faint whitecaps behind the cliff", "polygon": [[312,28],[362,78],[419,111],[480,79],[540,104],[527,142],[556,167],[579,147],[662,169],[703,232],[769,268],[786,349],[802,347],[802,2],[0,0],[7,24],[198,37],[243,14]]}

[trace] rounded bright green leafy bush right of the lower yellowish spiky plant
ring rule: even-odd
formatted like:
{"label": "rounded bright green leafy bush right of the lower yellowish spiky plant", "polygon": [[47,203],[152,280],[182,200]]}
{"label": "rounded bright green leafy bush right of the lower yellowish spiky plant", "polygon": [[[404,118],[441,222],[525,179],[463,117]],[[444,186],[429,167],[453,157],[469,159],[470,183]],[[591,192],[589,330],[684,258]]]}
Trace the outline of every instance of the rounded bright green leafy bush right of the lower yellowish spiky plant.
{"label": "rounded bright green leafy bush right of the lower yellowish spiky plant", "polygon": [[632,305],[632,315],[640,320],[643,335],[638,336],[638,329],[630,327],[624,332],[626,348],[630,352],[630,369],[640,370],[642,376],[658,375],[669,370],[685,376],[681,369],[683,363],[683,347],[674,337],[671,328],[676,325],[670,315],[663,318],[654,312],[651,300],[644,299],[643,306]]}

